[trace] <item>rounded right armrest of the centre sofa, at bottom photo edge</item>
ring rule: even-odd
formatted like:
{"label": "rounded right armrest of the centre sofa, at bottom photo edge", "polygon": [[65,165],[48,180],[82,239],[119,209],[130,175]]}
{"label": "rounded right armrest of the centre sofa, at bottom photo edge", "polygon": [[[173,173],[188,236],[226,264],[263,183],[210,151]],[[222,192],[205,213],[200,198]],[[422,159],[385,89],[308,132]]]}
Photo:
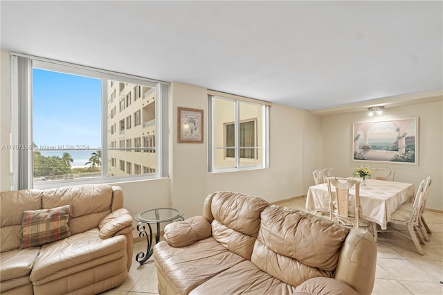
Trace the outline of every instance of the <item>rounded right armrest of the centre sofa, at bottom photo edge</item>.
{"label": "rounded right armrest of the centre sofa, at bottom photo edge", "polygon": [[317,277],[296,287],[294,295],[359,295],[350,285],[334,278]]}

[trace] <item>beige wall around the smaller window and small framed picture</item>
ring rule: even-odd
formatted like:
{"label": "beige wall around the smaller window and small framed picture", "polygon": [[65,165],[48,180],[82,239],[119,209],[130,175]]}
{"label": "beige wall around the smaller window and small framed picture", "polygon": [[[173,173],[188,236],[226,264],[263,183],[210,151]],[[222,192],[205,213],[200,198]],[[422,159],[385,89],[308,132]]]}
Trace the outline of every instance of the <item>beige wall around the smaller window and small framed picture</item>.
{"label": "beige wall around the smaller window and small framed picture", "polygon": [[[309,112],[273,105],[270,111],[271,167],[260,170],[208,173],[208,94],[206,88],[171,84],[172,157],[170,177],[172,206],[186,217],[201,214],[206,195],[233,190],[269,202],[303,195],[303,125]],[[204,143],[177,143],[177,107],[204,110]],[[314,120],[314,118],[311,118]],[[320,126],[320,118],[317,118]],[[318,132],[320,129],[318,129]],[[297,164],[296,164],[297,163]]]}

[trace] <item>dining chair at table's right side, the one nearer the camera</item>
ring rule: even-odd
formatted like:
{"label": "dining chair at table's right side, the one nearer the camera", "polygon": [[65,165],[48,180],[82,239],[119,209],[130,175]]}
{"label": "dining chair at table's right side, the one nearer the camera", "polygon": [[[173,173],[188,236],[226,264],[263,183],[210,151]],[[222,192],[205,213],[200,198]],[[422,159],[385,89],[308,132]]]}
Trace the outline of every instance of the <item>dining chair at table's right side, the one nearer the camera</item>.
{"label": "dining chair at table's right side, the one nearer the camera", "polygon": [[[424,255],[424,251],[420,244],[424,244],[424,237],[422,235],[422,230],[419,228],[419,212],[420,207],[422,206],[422,201],[424,197],[424,188],[426,186],[426,179],[424,179],[417,190],[417,195],[415,195],[415,199],[413,205],[410,207],[410,210],[406,210],[406,208],[397,208],[390,215],[390,221],[388,222],[388,226],[393,231],[397,231],[401,235],[405,235],[406,237],[413,240],[415,247],[420,255]],[[392,227],[392,225],[400,225],[407,226],[409,235],[401,231],[400,229],[396,229]],[[386,231],[392,231],[386,230]]]}

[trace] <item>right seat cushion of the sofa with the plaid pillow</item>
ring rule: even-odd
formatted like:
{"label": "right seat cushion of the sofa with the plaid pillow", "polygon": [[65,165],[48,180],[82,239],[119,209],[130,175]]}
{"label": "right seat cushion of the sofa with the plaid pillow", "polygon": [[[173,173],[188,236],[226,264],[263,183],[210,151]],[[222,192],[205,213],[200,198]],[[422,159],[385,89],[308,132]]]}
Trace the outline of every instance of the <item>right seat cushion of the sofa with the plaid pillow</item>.
{"label": "right seat cushion of the sofa with the plaid pillow", "polygon": [[30,280],[35,283],[62,269],[75,267],[112,253],[123,253],[126,251],[126,244],[125,235],[102,240],[98,235],[98,229],[45,244],[37,256]]}

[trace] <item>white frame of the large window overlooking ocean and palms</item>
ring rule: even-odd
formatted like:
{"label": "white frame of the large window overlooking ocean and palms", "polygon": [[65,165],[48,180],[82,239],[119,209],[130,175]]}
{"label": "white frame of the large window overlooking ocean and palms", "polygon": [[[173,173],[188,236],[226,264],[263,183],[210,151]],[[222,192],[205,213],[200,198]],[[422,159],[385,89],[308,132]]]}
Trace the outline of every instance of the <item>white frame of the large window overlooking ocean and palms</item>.
{"label": "white frame of the large window overlooking ocean and palms", "polygon": [[[26,60],[26,66],[20,64],[21,60]],[[11,175],[12,175],[12,189],[25,189],[25,188],[57,188],[60,186],[71,186],[76,184],[104,184],[104,183],[116,183],[121,181],[138,181],[143,179],[159,179],[163,177],[169,177],[168,174],[168,96],[170,83],[159,80],[152,80],[148,78],[142,78],[134,75],[116,73],[112,71],[96,69],[89,66],[81,66],[78,64],[71,64],[68,62],[62,62],[58,60],[50,60],[44,57],[35,57],[32,55],[24,55],[21,53],[10,52],[11,61],[11,144],[19,145],[24,142],[33,143],[33,121],[32,121],[32,75],[33,69],[43,69],[47,71],[57,71],[60,73],[67,73],[71,75],[82,75],[90,78],[98,78],[102,81],[102,109],[101,109],[101,150],[102,150],[102,175],[100,177],[91,177],[85,179],[66,179],[66,181],[44,181],[42,183],[34,184],[33,182],[33,150],[26,151],[26,155],[18,152],[11,152]],[[23,64],[23,62],[22,62]],[[27,73],[26,85],[21,81],[19,75],[22,72]],[[108,159],[107,150],[110,148],[107,144],[107,131],[111,129],[111,125],[107,125],[109,116],[108,100],[111,97],[111,93],[107,93],[107,81],[114,80],[125,83],[138,84],[145,87],[151,87],[156,89],[156,170],[154,173],[143,175],[126,175],[126,176],[113,176],[109,173],[108,165],[110,165]],[[24,88],[28,92],[25,95],[19,93],[19,88]],[[126,99],[126,97],[125,97]],[[19,102],[28,105],[28,114],[19,114]],[[19,128],[20,125],[26,124],[28,130],[21,134],[23,131]],[[116,126],[114,127],[116,129]],[[117,130],[114,130],[117,131]],[[20,138],[22,137],[22,138]],[[27,138],[27,139],[26,139]],[[23,164],[19,164],[23,162]],[[143,163],[141,163],[143,166]],[[19,172],[23,170],[23,172]],[[24,175],[20,175],[20,173]]]}

